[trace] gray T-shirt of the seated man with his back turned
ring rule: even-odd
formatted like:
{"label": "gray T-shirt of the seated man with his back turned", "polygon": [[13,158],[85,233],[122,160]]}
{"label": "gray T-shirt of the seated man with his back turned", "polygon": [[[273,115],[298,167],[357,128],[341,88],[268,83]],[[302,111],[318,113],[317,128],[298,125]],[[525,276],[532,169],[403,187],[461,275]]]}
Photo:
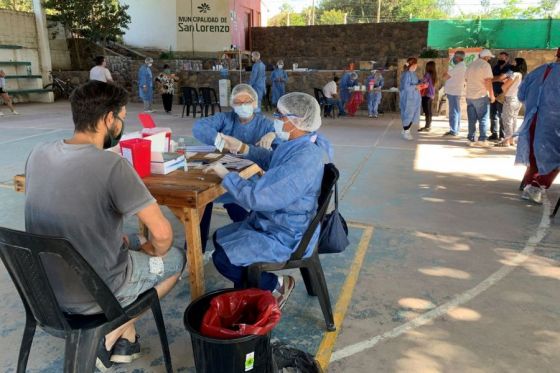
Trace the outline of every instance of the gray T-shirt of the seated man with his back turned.
{"label": "gray T-shirt of the seated man with his back turned", "polygon": [[[58,140],[35,147],[25,173],[26,230],[67,238],[113,292],[120,289],[129,263],[124,218],[155,203],[130,163],[94,145]],[[45,267],[67,311],[82,313],[95,306],[58,259],[49,258]]]}

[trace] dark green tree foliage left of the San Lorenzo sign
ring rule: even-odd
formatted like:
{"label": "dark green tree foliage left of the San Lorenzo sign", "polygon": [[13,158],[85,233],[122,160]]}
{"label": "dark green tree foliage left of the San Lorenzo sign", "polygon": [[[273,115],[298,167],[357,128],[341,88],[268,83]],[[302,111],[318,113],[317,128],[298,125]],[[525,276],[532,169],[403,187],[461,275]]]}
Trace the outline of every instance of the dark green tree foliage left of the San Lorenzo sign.
{"label": "dark green tree foliage left of the San Lorenzo sign", "polygon": [[128,5],[117,0],[46,0],[45,8],[72,35],[92,41],[115,40],[130,23]]}

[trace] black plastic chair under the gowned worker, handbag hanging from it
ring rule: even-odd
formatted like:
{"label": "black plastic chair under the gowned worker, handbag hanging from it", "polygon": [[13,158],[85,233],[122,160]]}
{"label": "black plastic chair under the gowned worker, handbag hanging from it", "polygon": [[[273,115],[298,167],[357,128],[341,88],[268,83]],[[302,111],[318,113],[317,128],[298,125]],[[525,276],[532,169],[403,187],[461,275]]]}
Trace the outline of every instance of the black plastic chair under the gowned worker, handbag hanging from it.
{"label": "black plastic chair under the gowned worker, handbag hanging from it", "polygon": [[334,325],[329,289],[327,287],[321,261],[319,260],[318,245],[315,245],[313,254],[310,257],[304,258],[303,255],[309,246],[309,241],[311,241],[317,226],[325,217],[338,177],[339,172],[334,164],[326,164],[323,181],[321,183],[321,194],[319,195],[317,214],[313,220],[311,220],[298,248],[292,254],[290,260],[283,263],[254,263],[247,268],[247,285],[248,287],[257,288],[259,287],[262,272],[299,268],[307,294],[318,296],[319,298],[319,304],[321,305],[328,331],[336,330],[336,326]]}

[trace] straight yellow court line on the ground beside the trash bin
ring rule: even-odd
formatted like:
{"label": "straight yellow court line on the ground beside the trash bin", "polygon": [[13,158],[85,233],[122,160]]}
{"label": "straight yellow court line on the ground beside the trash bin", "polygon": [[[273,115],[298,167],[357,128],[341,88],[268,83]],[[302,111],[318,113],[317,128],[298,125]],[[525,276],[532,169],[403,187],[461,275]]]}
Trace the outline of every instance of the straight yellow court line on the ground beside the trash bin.
{"label": "straight yellow court line on the ground beside the trash bin", "polygon": [[360,270],[362,269],[362,264],[364,263],[364,257],[366,255],[369,242],[373,237],[373,226],[371,225],[365,225],[361,223],[348,225],[363,228],[364,233],[362,233],[362,238],[360,239],[358,250],[356,252],[356,256],[354,257],[354,262],[350,267],[350,272],[346,277],[346,281],[344,281],[344,285],[342,285],[342,289],[340,290],[340,297],[336,302],[336,306],[334,309],[334,325],[336,326],[336,330],[334,332],[325,333],[325,335],[323,336],[323,340],[319,345],[319,349],[317,350],[317,354],[315,355],[315,359],[319,362],[321,368],[323,368],[325,372],[327,371],[327,367],[329,366],[331,355],[334,349],[334,344],[336,343],[336,339],[338,338],[338,333],[340,332],[340,328],[342,327],[342,322],[344,321],[344,317],[346,316],[346,311],[348,311],[348,307],[350,306],[352,293],[354,292],[354,287],[358,282],[358,276],[360,275]]}

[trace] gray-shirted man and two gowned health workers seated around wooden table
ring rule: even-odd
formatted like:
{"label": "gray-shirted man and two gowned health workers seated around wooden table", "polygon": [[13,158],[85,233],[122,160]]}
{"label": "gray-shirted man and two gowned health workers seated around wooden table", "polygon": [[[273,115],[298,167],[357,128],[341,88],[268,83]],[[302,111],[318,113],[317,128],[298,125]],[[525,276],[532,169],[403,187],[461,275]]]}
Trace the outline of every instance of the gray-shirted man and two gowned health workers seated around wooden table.
{"label": "gray-shirted man and two gowned health workers seated around wooden table", "polygon": [[[233,222],[214,234],[213,262],[235,287],[243,286],[248,265],[286,261],[297,248],[316,213],[324,163],[332,156],[328,141],[316,132],[321,112],[314,97],[283,95],[273,120],[258,112],[258,97],[250,85],[240,84],[232,91],[232,112],[202,118],[193,128],[200,141],[214,144],[220,136],[225,150],[266,171],[245,180],[219,162],[205,170],[222,178],[227,190],[217,202]],[[152,287],[164,296],[186,265],[182,243],[173,245],[171,224],[138,174],[125,158],[104,151],[123,135],[127,103],[125,89],[110,82],[78,87],[70,98],[73,136],[36,146],[25,170],[26,231],[68,239],[123,307]],[[204,241],[211,213],[210,205],[201,222],[207,224]],[[133,215],[148,228],[148,237],[124,234],[124,219]],[[319,230],[306,255],[318,235]],[[100,312],[72,271],[58,261],[45,262],[45,269],[66,312]],[[263,273],[260,283],[280,307],[295,286],[293,277],[272,273]],[[99,342],[97,366],[104,370],[139,356],[133,320]]]}

